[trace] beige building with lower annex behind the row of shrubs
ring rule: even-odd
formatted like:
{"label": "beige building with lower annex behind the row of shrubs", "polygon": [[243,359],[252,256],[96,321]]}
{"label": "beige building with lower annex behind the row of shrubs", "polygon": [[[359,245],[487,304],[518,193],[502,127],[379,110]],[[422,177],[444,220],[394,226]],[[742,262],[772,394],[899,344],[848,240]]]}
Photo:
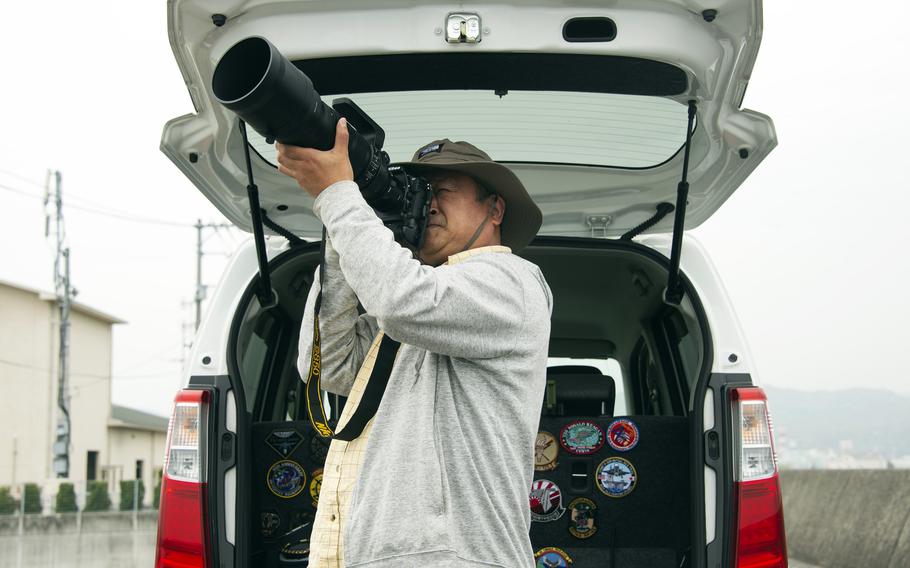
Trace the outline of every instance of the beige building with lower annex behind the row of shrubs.
{"label": "beige building with lower annex behind the row of shrubs", "polygon": [[138,472],[151,502],[167,419],[111,404],[112,330],[125,322],[78,302],[70,311],[69,476],[54,473],[59,323],[54,295],[0,281],[0,486],[37,483],[47,499],[61,481],[79,493],[87,481],[106,480],[115,494]]}

